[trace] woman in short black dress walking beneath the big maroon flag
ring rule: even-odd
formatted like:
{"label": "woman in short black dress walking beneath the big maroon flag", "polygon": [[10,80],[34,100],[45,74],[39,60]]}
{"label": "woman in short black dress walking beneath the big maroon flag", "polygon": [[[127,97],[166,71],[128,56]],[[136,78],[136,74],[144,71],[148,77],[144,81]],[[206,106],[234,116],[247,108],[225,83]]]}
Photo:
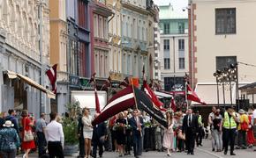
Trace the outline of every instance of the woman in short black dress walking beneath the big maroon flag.
{"label": "woman in short black dress walking beneath the big maroon flag", "polygon": [[120,112],[116,120],[116,133],[117,133],[117,146],[119,151],[119,157],[124,155],[124,143],[125,143],[125,125],[126,119],[124,119],[124,113]]}

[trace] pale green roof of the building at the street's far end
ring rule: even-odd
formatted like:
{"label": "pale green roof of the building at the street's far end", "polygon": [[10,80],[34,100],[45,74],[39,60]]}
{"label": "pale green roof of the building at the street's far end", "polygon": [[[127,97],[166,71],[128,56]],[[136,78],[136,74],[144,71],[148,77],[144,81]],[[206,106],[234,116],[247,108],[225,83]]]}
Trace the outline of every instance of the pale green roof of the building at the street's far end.
{"label": "pale green roof of the building at the street's far end", "polygon": [[176,10],[172,5],[162,5],[159,6],[159,18],[160,19],[187,19],[187,10]]}

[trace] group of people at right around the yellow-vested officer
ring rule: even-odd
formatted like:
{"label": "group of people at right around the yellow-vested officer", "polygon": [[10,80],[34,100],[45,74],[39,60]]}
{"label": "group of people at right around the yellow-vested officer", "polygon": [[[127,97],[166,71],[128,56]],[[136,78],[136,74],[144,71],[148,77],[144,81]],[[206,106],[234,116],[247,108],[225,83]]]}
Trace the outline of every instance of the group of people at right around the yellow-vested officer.
{"label": "group of people at right around the yellow-vested officer", "polygon": [[256,106],[250,106],[248,111],[233,107],[226,107],[226,111],[217,109],[215,106],[208,116],[208,124],[212,135],[212,151],[236,155],[235,149],[253,147],[256,124]]}

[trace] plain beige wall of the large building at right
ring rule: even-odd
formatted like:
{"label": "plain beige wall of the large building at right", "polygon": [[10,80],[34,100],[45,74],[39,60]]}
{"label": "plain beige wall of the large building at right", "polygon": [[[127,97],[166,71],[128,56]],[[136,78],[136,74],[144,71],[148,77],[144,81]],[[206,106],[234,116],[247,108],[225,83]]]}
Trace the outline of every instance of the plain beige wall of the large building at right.
{"label": "plain beige wall of the large building at right", "polygon": [[[216,71],[216,57],[218,56],[236,56],[237,61],[255,64],[255,41],[256,33],[254,29],[256,23],[253,22],[256,15],[256,1],[206,1],[193,0],[194,5],[194,63],[195,79],[197,83],[215,83],[213,76]],[[233,22],[228,22],[227,18],[222,19],[234,27],[229,29],[229,25],[221,25],[223,32],[217,32],[216,11],[227,9],[234,11]],[[230,9],[230,10],[229,10]],[[225,12],[223,12],[225,16]],[[222,15],[220,15],[222,16]],[[232,16],[232,15],[230,15]],[[221,19],[220,19],[221,20]],[[207,28],[207,29],[206,29]],[[229,62],[227,58],[227,62]],[[239,83],[248,83],[255,81],[256,75],[253,75],[255,68],[238,64]]]}

